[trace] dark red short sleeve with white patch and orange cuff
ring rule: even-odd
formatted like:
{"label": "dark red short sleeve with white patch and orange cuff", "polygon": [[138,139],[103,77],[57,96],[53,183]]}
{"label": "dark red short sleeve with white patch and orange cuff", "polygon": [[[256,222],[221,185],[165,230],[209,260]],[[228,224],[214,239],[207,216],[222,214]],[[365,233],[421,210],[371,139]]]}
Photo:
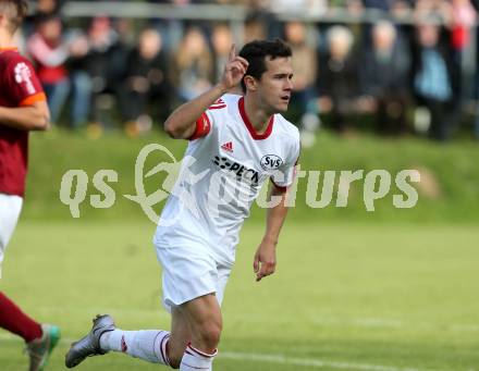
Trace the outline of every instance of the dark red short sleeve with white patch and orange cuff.
{"label": "dark red short sleeve with white patch and orange cuff", "polygon": [[15,59],[8,66],[8,82],[16,106],[32,106],[45,101],[44,88],[32,64],[25,59]]}

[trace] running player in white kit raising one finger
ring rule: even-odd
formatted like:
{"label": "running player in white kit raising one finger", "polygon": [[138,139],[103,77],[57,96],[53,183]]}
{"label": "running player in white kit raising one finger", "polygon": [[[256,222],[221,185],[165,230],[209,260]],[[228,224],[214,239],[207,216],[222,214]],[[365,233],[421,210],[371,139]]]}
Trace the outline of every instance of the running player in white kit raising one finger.
{"label": "running player in white kit raising one finger", "polygon": [[[176,109],[164,123],[189,139],[182,171],[153,238],[163,268],[163,304],[171,332],[123,331],[109,314],[66,354],[71,368],[86,357],[123,351],[174,369],[211,370],[222,329],[221,301],[243,221],[271,178],[265,236],[254,257],[256,280],[272,274],[286,217],[286,188],[299,156],[297,128],[283,119],[292,91],[291,49],[281,40],[234,47],[221,82]],[[229,90],[242,85],[244,96]],[[199,118],[199,119],[198,119]]]}

